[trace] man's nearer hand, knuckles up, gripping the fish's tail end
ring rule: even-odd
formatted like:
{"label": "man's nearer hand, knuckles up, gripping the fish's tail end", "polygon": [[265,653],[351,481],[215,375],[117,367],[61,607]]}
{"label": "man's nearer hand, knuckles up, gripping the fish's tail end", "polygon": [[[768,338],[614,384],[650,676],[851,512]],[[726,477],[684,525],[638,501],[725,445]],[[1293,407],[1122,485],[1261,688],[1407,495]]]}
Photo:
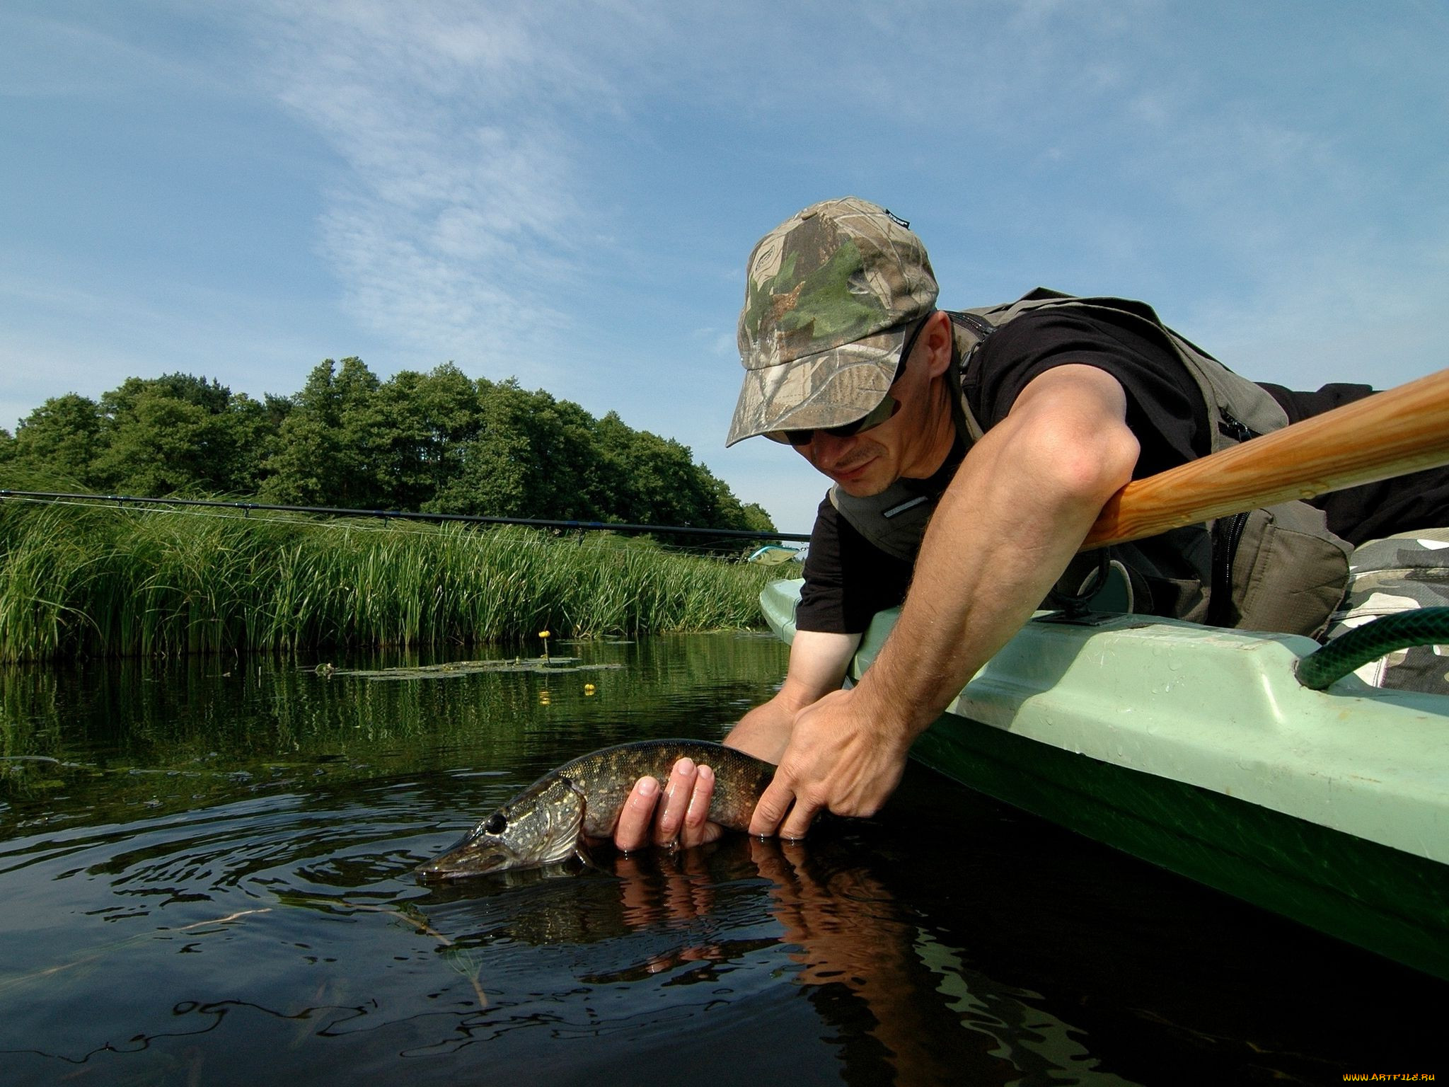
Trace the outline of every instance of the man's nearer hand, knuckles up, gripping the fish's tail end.
{"label": "man's nearer hand, knuckles up, gripping the fish's tail end", "polygon": [[871,816],[900,784],[910,735],[869,710],[859,688],[796,715],[790,744],[751,819],[752,835],[804,838],[816,815]]}

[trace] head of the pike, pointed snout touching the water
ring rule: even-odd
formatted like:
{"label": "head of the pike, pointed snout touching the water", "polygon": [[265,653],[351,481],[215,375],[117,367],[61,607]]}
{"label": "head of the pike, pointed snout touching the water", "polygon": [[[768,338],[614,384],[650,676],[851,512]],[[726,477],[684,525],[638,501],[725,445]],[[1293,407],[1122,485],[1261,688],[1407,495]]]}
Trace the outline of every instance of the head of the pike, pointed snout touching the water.
{"label": "head of the pike, pointed snout touching the water", "polygon": [[539,783],[414,871],[430,883],[540,868],[577,851],[582,823],[584,797],[564,780]]}

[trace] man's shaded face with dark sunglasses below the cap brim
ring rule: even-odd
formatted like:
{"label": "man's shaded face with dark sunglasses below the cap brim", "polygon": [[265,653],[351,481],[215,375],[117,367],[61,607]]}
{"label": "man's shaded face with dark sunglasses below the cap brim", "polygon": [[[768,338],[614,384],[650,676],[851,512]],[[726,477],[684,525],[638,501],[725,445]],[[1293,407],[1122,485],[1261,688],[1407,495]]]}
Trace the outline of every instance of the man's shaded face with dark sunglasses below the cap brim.
{"label": "man's shaded face with dark sunglasses below the cap brim", "polygon": [[[939,468],[955,439],[942,372],[949,362],[951,319],[936,313],[911,348],[890,396],[900,410],[880,426],[839,438],[814,430],[800,455],[858,499],[880,494],[903,475],[924,478]],[[940,354],[945,351],[943,361]]]}

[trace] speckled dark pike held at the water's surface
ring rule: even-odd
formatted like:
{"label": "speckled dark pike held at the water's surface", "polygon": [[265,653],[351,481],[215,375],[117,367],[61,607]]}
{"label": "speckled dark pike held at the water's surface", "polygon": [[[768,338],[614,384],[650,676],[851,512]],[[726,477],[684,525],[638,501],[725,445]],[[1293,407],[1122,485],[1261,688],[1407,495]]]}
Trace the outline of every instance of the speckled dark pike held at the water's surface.
{"label": "speckled dark pike held at the water's surface", "polygon": [[722,744],[698,739],[646,739],[580,755],[549,771],[478,823],[462,841],[426,864],[426,881],[542,868],[584,855],[584,838],[609,838],[635,781],[646,774],[668,781],[684,758],[714,771],[710,819],[748,830],[759,794],[775,767]]}

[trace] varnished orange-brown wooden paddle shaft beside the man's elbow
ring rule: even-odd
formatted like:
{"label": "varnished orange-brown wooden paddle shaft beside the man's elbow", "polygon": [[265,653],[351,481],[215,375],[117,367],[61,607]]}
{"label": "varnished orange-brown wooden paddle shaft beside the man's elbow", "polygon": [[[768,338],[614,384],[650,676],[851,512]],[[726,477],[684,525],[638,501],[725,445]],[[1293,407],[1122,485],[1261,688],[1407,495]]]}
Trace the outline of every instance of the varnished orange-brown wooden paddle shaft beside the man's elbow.
{"label": "varnished orange-brown wooden paddle shaft beside the man's elbow", "polygon": [[1133,480],[1082,551],[1449,464],[1449,370]]}

